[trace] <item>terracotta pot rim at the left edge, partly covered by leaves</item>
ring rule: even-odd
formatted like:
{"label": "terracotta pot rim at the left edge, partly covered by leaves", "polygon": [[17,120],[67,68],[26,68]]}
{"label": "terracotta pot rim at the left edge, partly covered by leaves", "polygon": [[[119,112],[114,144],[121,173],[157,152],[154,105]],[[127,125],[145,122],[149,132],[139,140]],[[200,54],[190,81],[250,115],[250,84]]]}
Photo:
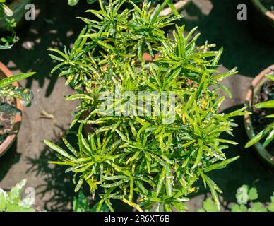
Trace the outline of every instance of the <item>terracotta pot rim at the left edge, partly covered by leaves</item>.
{"label": "terracotta pot rim at the left edge, partly covered by leaves", "polygon": [[[4,74],[4,76],[6,77],[13,76],[11,71],[9,71],[8,68],[1,62],[0,62],[0,73]],[[19,86],[17,82],[12,83],[12,85]],[[16,107],[20,109],[21,112],[23,111],[23,106],[19,99],[16,99]],[[0,157],[1,155],[4,155],[4,153],[6,153],[8,148],[10,148],[13,142],[16,140],[16,136],[20,129],[21,121],[22,121],[22,114],[16,114],[16,117],[13,121],[13,129],[11,130],[11,133],[8,134],[6,139],[0,145]]]}

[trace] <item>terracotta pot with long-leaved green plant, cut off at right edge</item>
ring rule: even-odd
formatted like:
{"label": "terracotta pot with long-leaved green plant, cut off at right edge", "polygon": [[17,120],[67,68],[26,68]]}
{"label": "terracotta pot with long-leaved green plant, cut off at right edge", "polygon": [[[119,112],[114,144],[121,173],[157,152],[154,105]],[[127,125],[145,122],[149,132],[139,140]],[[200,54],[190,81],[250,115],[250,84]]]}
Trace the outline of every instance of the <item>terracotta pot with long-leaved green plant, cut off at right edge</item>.
{"label": "terracotta pot with long-leaved green plant, cut off at right edge", "polygon": [[244,117],[246,133],[251,139],[246,148],[254,145],[256,153],[270,167],[274,167],[274,65],[254,78],[246,95],[245,105],[253,114]]}

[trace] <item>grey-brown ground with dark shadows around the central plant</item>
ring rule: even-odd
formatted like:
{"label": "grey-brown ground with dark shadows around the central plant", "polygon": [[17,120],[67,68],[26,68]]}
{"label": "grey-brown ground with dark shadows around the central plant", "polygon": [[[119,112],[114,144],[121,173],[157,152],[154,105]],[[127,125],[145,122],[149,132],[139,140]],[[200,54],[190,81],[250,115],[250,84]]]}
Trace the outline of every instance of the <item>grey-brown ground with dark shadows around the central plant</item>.
{"label": "grey-brown ground with dark shadows around the central plant", "polygon": [[[71,174],[64,174],[63,167],[48,164],[47,161],[55,160],[55,157],[45,147],[43,140],[60,140],[73,119],[71,113],[75,110],[76,103],[65,102],[66,95],[73,93],[73,90],[64,85],[64,78],[50,74],[55,62],[48,56],[47,48],[71,46],[83,28],[83,23],[76,16],[83,16],[88,6],[84,1],[76,7],[66,6],[66,0],[34,2],[36,20],[28,23],[18,33],[20,42],[13,49],[1,52],[0,55],[0,61],[13,73],[37,71],[35,76],[21,83],[33,90],[35,99],[32,107],[24,109],[23,123],[16,143],[0,158],[0,187],[8,189],[27,178],[27,186],[35,188],[37,208],[69,210],[75,195]],[[252,79],[273,64],[274,59],[273,46],[256,39],[248,22],[237,20],[237,4],[237,0],[193,0],[184,11],[185,18],[180,22],[186,24],[186,30],[198,26],[202,33],[198,44],[204,44],[208,40],[218,47],[224,47],[220,71],[238,66],[239,73],[223,82],[232,90],[233,95],[232,100],[227,98],[222,105],[225,112],[243,104]],[[42,110],[53,114],[54,119],[40,117]],[[211,173],[210,177],[224,192],[223,206],[235,200],[234,194],[239,186],[252,185],[256,179],[259,179],[255,184],[259,198],[266,202],[274,191],[274,173],[260,162],[252,148],[244,148],[247,137],[243,119],[239,117],[236,121],[239,127],[234,131],[234,140],[239,145],[230,147],[227,156],[241,157],[227,168]],[[201,186],[189,202],[191,209],[200,208],[205,196],[208,196],[208,190]]]}

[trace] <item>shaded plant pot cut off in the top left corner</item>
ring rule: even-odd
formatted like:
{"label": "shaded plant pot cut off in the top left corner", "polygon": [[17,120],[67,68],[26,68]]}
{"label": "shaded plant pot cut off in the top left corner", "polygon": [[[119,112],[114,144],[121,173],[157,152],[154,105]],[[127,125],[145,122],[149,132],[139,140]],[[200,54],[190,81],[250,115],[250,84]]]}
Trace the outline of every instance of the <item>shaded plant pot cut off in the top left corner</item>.
{"label": "shaded plant pot cut off in the top left corner", "polygon": [[17,23],[17,27],[23,24],[25,20],[25,6],[30,4],[32,0],[13,0],[10,4],[7,4],[8,8],[11,8],[13,11],[12,17],[7,17],[6,15],[0,16],[0,32],[7,32],[7,23],[6,18],[14,18]]}

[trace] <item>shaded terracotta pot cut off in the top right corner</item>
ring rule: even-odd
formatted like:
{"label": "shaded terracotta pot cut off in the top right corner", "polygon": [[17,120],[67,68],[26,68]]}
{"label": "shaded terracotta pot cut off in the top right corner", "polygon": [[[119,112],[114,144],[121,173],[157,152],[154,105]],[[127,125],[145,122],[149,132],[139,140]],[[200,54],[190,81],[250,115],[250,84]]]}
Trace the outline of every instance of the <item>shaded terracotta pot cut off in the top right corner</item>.
{"label": "shaded terracotta pot cut off in the top right corner", "polygon": [[251,13],[248,21],[255,35],[261,40],[274,43],[274,13],[261,4],[260,0],[251,0]]}

